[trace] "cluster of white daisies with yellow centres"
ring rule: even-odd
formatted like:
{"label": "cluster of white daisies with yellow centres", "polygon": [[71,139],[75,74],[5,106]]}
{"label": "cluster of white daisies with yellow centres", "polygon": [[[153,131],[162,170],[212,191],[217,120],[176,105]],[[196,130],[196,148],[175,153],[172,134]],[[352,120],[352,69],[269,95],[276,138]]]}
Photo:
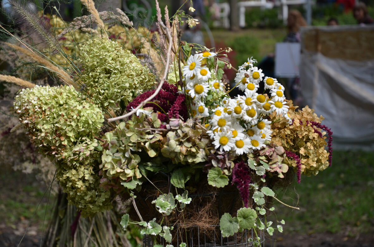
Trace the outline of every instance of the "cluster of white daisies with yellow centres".
{"label": "cluster of white daisies with yellow centres", "polygon": [[[214,56],[216,53],[209,51],[191,55],[183,67],[186,83],[182,91],[191,97],[192,115],[207,117],[207,133],[215,149],[231,151],[236,156],[260,150],[266,146],[266,140],[271,140],[267,116],[275,112],[291,123],[284,87],[275,78],[264,77],[262,70],[254,66],[257,61],[251,58],[239,66],[235,77],[236,87],[243,95],[229,98],[223,82],[206,66],[204,58]],[[270,98],[257,92],[260,82],[265,90],[270,90]],[[208,95],[217,95],[219,101],[208,100]]]}

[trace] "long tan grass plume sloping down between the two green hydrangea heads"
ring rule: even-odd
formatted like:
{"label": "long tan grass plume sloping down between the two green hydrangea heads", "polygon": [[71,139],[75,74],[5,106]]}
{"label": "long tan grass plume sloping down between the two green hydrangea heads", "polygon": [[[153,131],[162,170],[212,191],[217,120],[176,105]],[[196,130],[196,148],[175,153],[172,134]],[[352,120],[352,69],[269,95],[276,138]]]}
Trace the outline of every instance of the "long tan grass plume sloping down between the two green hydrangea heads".
{"label": "long tan grass plume sloping down between the two green hydrangea heads", "polygon": [[60,78],[64,82],[64,84],[71,85],[76,89],[79,88],[79,86],[71,79],[71,76],[66,71],[64,71],[63,69],[59,68],[58,66],[53,65],[48,60],[40,57],[39,55],[37,55],[37,54],[27,50],[27,49],[24,49],[24,48],[19,47],[19,46],[15,46],[15,45],[10,44],[10,43],[6,43],[6,44],[9,47],[12,47],[14,50],[20,51],[20,52],[24,53],[25,55],[29,56],[35,62],[44,65],[50,71],[55,72],[57,74],[58,78]]}

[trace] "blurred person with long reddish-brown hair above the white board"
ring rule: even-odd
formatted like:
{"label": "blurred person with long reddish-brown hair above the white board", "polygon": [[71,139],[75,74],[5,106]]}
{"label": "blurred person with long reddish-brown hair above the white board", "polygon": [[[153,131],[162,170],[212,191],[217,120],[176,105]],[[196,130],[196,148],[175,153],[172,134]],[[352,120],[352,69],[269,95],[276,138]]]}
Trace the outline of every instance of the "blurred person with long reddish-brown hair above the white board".
{"label": "blurred person with long reddish-brown hair above the white board", "polygon": [[287,18],[287,37],[284,42],[300,42],[300,26],[306,26],[306,21],[298,10],[291,10]]}

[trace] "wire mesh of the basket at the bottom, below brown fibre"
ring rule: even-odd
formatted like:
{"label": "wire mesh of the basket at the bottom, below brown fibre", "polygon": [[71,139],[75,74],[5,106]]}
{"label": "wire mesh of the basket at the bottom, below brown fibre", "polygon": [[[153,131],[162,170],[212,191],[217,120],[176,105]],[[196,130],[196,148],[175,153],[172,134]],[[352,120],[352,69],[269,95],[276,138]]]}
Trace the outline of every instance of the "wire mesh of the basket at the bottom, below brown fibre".
{"label": "wire mesh of the basket at the bottom, below brown fibre", "polygon": [[[240,233],[236,233],[231,237],[224,238],[221,235],[220,226],[212,226],[214,231],[212,233],[202,233],[200,231],[199,226],[191,226],[187,229],[174,228],[173,230],[173,240],[172,243],[175,247],[179,247],[180,243],[186,243],[188,247],[249,247],[254,246],[258,242],[256,241],[257,236],[260,237],[260,245],[264,246],[265,242],[265,234],[264,231],[260,231],[256,233],[253,229],[245,230]],[[165,241],[163,237],[159,236],[150,236],[150,235],[143,235],[143,246],[144,247],[153,247],[156,244],[160,244],[162,246],[166,246],[169,244]]]}

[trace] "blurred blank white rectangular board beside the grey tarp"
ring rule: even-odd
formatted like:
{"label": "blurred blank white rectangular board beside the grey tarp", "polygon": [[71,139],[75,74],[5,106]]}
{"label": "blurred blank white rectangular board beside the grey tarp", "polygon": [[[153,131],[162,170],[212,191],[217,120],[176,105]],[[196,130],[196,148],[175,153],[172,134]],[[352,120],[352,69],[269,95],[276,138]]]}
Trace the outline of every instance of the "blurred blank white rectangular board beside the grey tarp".
{"label": "blurred blank white rectangular board beside the grey tarp", "polygon": [[293,78],[299,76],[300,49],[300,43],[276,43],[276,77]]}

